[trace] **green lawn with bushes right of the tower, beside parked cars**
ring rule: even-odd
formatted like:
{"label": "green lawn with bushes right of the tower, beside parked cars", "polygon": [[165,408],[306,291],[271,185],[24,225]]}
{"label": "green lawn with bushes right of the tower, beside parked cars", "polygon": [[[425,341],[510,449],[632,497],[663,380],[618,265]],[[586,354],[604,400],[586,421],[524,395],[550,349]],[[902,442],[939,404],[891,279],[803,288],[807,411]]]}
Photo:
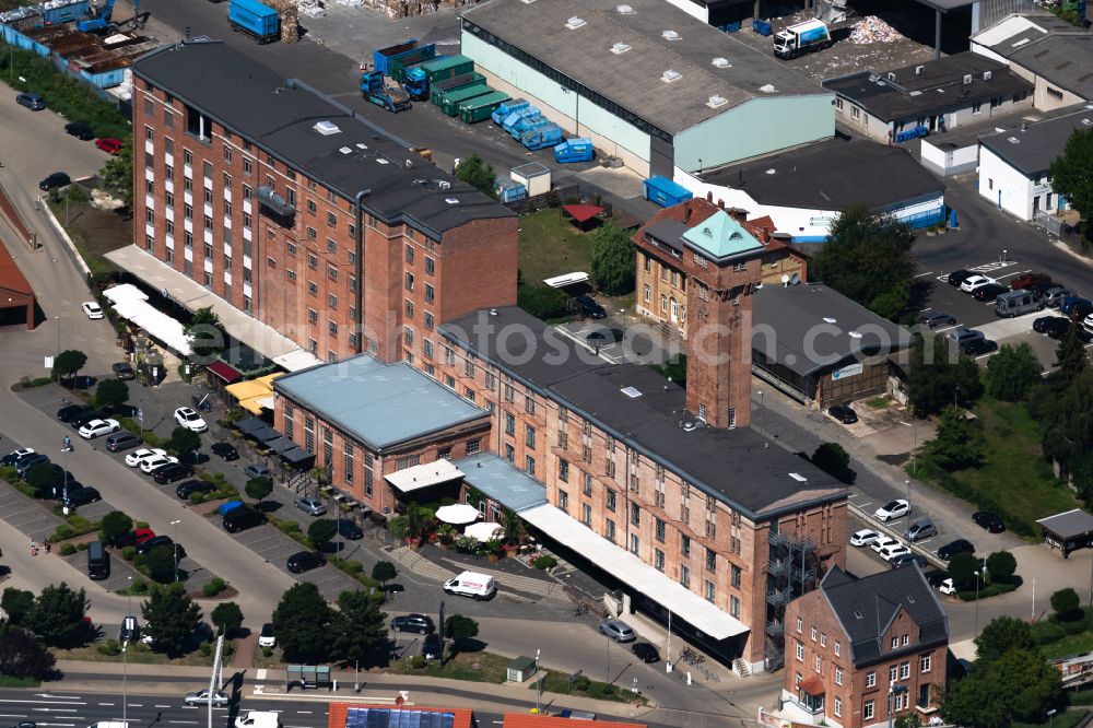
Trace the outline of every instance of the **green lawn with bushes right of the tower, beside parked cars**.
{"label": "green lawn with bushes right of the tower, beside parked cars", "polygon": [[1079,507],[1044,460],[1039,426],[1023,404],[984,398],[974,412],[986,441],[984,465],[950,473],[924,456],[918,458],[916,478],[998,513],[1007,528],[1024,537],[1038,532],[1038,518]]}

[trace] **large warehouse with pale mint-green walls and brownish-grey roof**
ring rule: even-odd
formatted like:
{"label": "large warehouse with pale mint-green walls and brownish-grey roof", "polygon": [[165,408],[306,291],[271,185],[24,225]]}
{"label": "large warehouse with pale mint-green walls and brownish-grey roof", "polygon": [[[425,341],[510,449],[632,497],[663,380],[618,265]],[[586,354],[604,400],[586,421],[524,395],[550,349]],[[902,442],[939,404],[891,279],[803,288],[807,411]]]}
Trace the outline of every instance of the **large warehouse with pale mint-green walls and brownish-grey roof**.
{"label": "large warehouse with pale mint-green walls and brownish-grey roof", "polygon": [[643,176],[697,172],[827,139],[834,95],[663,0],[491,0],[462,51]]}

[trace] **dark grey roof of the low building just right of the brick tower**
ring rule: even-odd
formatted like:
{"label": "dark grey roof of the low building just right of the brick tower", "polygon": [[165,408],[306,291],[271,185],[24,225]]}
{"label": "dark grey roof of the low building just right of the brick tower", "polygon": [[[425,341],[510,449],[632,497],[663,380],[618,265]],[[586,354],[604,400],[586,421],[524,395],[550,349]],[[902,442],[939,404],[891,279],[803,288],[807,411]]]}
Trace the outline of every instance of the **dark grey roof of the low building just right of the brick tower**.
{"label": "dark grey roof of the low building just right of the brick tower", "polygon": [[752,349],[802,376],[909,345],[909,331],[821,283],[755,293]]}

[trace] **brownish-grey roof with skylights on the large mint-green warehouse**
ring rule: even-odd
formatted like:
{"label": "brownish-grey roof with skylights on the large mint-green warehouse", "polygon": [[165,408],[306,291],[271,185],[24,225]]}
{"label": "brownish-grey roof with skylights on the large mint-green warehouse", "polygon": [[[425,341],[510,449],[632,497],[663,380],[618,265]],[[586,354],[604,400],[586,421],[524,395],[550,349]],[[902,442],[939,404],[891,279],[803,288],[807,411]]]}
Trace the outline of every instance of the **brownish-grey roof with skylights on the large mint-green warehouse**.
{"label": "brownish-grey roof with skylights on the large mint-green warehouse", "polygon": [[[679,133],[753,98],[826,94],[811,79],[687,15],[663,0],[490,0],[463,11],[470,22],[635,116]],[[571,19],[584,24],[566,25]],[[674,31],[678,39],[663,36]],[[615,44],[628,46],[613,52]],[[728,66],[718,68],[715,58]],[[661,74],[673,70],[677,80]],[[726,99],[710,107],[710,96]]]}

